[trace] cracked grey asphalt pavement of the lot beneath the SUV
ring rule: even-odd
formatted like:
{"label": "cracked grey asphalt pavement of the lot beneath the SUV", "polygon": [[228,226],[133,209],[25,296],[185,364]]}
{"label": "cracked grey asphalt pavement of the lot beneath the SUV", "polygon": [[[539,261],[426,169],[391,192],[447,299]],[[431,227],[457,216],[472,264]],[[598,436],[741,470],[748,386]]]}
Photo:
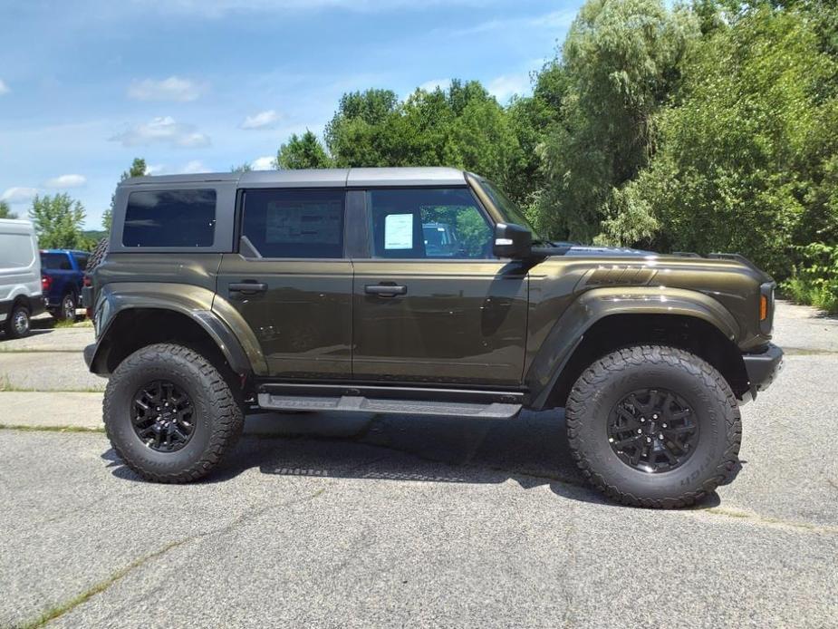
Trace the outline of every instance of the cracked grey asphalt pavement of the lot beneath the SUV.
{"label": "cracked grey asphalt pavement of the lot beneath the SUV", "polygon": [[[53,386],[90,334],[0,340],[0,377]],[[737,479],[679,511],[588,489],[561,412],[256,416],[162,486],[86,382],[0,392],[0,627],[838,626],[838,320],[781,304],[776,341]]]}

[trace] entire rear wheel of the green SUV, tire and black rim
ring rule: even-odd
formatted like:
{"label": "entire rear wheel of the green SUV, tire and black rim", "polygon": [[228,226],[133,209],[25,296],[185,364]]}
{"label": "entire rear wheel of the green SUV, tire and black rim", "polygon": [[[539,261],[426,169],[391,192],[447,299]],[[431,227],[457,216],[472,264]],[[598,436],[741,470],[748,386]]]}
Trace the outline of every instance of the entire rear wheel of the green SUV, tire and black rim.
{"label": "entire rear wheel of the green SUV, tire and black rim", "polygon": [[244,415],[212,363],[186,347],[154,344],[111,374],[105,430],[143,479],[182,483],[206,476],[238,439]]}

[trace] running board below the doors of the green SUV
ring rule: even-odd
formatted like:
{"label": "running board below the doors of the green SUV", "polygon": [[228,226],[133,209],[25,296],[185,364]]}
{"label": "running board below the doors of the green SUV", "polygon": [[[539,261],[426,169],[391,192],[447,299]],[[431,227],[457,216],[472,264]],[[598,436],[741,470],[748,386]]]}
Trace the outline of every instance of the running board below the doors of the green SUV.
{"label": "running board below the doors of the green SUV", "polygon": [[444,415],[477,419],[508,420],[521,411],[521,404],[502,402],[428,402],[417,400],[374,400],[357,395],[314,397],[259,393],[259,407],[265,411],[380,412],[399,415]]}

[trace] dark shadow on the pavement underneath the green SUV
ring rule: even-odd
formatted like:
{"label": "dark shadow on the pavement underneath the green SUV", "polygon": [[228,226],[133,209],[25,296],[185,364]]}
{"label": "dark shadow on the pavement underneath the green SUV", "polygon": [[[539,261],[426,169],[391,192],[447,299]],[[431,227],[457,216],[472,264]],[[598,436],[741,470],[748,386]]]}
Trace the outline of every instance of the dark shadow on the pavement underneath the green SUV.
{"label": "dark shadow on the pavement underneath the green SUV", "polygon": [[[111,473],[140,480],[113,450]],[[524,412],[511,421],[400,415],[260,415],[248,418],[234,450],[202,484],[229,482],[250,469],[283,477],[502,484],[549,487],[556,495],[617,506],[579,473],[563,411]],[[697,508],[720,504],[715,492]]]}

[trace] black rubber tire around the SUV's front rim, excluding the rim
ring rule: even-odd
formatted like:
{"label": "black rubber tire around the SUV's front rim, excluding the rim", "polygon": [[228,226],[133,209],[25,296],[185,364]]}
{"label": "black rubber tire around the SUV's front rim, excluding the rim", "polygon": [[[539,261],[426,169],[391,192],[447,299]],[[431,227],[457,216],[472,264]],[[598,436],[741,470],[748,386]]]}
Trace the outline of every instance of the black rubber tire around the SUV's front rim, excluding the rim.
{"label": "black rubber tire around the SUV's front rim, excluding the rim", "polygon": [[[698,444],[682,466],[641,471],[612,450],[608,417],[622,396],[641,387],[665,388],[689,402],[698,422]],[[584,478],[622,504],[685,507],[738,469],[742,422],[736,396],[711,365],[674,347],[640,345],[594,361],[573,384],[565,417],[571,453]]]}

